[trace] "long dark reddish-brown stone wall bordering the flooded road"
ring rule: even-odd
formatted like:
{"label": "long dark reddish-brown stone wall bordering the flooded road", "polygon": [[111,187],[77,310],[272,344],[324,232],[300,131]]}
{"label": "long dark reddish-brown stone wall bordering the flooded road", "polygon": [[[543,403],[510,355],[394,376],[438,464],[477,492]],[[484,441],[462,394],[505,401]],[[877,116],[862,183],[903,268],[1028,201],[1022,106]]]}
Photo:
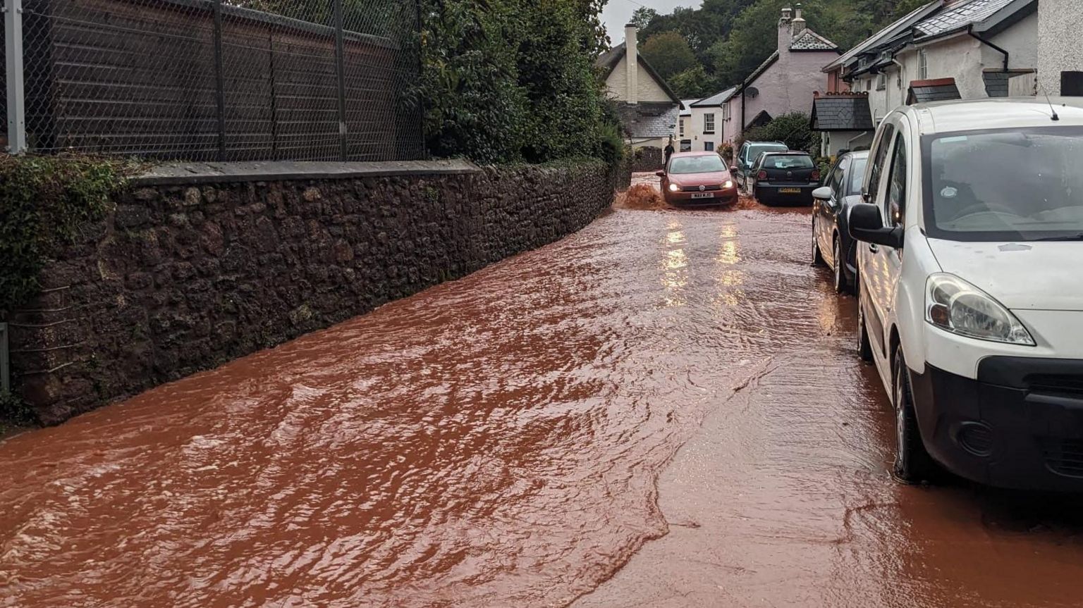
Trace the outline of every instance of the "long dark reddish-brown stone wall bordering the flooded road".
{"label": "long dark reddish-brown stone wall bordering the flooded road", "polygon": [[560,239],[618,181],[602,163],[356,168],[138,180],[9,315],[16,389],[61,422]]}

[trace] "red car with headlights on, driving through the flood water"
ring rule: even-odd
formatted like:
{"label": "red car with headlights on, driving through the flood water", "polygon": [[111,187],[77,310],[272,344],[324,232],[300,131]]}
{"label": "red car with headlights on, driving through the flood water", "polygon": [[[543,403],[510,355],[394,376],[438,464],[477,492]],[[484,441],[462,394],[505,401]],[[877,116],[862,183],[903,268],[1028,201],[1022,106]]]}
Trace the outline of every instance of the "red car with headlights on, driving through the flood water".
{"label": "red car with headlights on, driving through the flood water", "polygon": [[713,151],[677,153],[669,157],[662,177],[662,194],[673,206],[730,204],[738,187],[722,157]]}

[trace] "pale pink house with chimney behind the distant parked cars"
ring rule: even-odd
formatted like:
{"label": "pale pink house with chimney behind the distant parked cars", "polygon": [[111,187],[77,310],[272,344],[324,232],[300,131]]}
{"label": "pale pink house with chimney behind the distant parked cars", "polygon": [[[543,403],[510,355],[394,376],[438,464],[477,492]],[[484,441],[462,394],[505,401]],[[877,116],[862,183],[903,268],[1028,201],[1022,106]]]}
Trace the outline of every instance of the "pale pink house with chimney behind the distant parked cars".
{"label": "pale pink house with chimney behind the distant parked cars", "polygon": [[824,90],[821,69],[838,54],[838,45],[806,26],[800,4],[796,14],[783,9],[778,50],[726,102],[730,121],[725,129],[725,141],[732,142],[746,129],[777,116],[808,113],[812,93]]}

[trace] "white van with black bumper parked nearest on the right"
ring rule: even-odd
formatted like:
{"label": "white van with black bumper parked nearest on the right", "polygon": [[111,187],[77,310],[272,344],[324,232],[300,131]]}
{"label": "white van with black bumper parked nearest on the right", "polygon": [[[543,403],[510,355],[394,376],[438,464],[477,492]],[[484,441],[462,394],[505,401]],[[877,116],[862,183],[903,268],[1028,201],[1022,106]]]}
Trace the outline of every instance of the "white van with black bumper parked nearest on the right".
{"label": "white van with black bumper parked nearest on the right", "polygon": [[[895,473],[1083,490],[1083,108],[903,106],[850,210]],[[1079,104],[1079,101],[1074,102]]]}

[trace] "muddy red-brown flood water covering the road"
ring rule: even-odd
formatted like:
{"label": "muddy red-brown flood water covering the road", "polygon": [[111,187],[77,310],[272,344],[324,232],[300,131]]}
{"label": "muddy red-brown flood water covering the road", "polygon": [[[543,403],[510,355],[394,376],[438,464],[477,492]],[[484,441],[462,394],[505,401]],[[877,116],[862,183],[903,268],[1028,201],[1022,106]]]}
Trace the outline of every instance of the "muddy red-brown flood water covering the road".
{"label": "muddy red-brown flood water covering the road", "polygon": [[617,210],[0,444],[0,606],[1083,604],[1083,502],[889,474],[807,210]]}

